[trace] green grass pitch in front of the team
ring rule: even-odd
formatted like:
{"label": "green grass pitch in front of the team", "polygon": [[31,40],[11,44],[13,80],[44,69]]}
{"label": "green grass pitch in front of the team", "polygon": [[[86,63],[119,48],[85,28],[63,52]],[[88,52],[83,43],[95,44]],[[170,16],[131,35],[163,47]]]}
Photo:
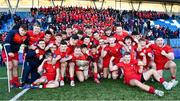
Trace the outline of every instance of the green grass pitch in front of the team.
{"label": "green grass pitch in front of the team", "polygon": [[[177,63],[177,79],[180,80],[180,60]],[[6,76],[6,70],[0,68],[0,77]],[[170,80],[170,73],[166,71],[166,80]],[[64,87],[56,89],[32,89],[25,93],[20,100],[180,100],[180,84],[171,91],[166,91],[162,85],[157,82],[147,82],[155,88],[163,90],[165,96],[158,97],[153,94],[146,93],[139,88],[130,87],[123,84],[122,80],[106,79],[101,84],[95,84],[93,79],[89,79],[84,83],[76,82],[75,87],[70,87],[66,82]],[[7,93],[7,80],[0,80],[0,99],[9,100],[15,96],[20,89],[12,89]]]}

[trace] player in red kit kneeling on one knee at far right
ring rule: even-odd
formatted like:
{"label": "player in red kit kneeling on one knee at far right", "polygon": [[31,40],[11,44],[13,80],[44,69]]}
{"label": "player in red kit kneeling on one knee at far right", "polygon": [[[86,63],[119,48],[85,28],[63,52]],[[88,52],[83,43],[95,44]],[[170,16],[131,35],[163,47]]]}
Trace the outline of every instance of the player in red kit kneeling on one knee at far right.
{"label": "player in red kit kneeling on one knee at far right", "polygon": [[164,44],[164,39],[158,37],[155,44],[149,46],[154,53],[154,62],[156,63],[156,70],[163,76],[163,70],[170,70],[171,84],[175,87],[178,84],[176,80],[176,63],[174,60],[173,49],[169,45]]}

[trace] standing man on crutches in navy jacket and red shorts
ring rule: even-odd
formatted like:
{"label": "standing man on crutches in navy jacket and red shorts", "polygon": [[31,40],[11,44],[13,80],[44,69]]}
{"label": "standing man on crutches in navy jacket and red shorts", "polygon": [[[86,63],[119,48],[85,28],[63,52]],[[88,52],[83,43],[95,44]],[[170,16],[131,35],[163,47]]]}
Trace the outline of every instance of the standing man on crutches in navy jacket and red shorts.
{"label": "standing man on crutches in navy jacket and red shorts", "polygon": [[[19,87],[19,79],[18,79],[18,51],[20,46],[24,44],[27,39],[27,25],[23,24],[19,27],[19,30],[11,30],[5,37],[4,47],[2,51],[3,61],[8,65],[9,69],[9,78],[10,85]],[[7,54],[6,54],[7,53]],[[7,58],[8,55],[8,58]],[[8,59],[8,61],[7,61]],[[8,63],[7,63],[8,62]]]}

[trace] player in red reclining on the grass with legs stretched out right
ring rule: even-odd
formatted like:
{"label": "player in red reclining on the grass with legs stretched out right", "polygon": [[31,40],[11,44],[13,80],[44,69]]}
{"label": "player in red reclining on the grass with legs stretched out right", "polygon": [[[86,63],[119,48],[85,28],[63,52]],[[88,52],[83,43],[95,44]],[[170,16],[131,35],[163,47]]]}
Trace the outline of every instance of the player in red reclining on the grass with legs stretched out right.
{"label": "player in red reclining on the grass with legs stretched out right", "polygon": [[[114,58],[111,58],[111,61],[113,61],[113,59]],[[150,69],[142,73],[144,65],[145,64],[142,61],[132,60],[130,53],[125,52],[121,62],[114,66],[112,62],[110,62],[110,70],[113,71],[117,70],[118,68],[122,68],[124,71],[124,83],[130,86],[137,86],[144,91],[156,94],[158,96],[163,96],[164,92],[143,83],[149,80],[151,76],[154,76],[154,78],[160,82],[166,90],[170,90],[173,87],[170,83],[166,82],[155,69]]]}

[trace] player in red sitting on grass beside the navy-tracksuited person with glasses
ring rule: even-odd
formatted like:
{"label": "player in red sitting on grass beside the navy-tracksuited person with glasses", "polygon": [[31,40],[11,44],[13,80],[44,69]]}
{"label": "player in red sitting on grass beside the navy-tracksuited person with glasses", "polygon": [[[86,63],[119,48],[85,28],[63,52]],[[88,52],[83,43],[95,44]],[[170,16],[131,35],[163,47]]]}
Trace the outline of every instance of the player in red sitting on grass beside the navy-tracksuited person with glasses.
{"label": "player in red sitting on grass beside the navy-tracksuited person with glasses", "polygon": [[40,84],[43,86],[39,86],[39,88],[56,88],[59,87],[59,65],[52,63],[53,54],[49,51],[45,54],[45,59],[38,67],[38,72],[42,73],[42,76],[37,79],[33,84],[33,87],[37,87]]}

